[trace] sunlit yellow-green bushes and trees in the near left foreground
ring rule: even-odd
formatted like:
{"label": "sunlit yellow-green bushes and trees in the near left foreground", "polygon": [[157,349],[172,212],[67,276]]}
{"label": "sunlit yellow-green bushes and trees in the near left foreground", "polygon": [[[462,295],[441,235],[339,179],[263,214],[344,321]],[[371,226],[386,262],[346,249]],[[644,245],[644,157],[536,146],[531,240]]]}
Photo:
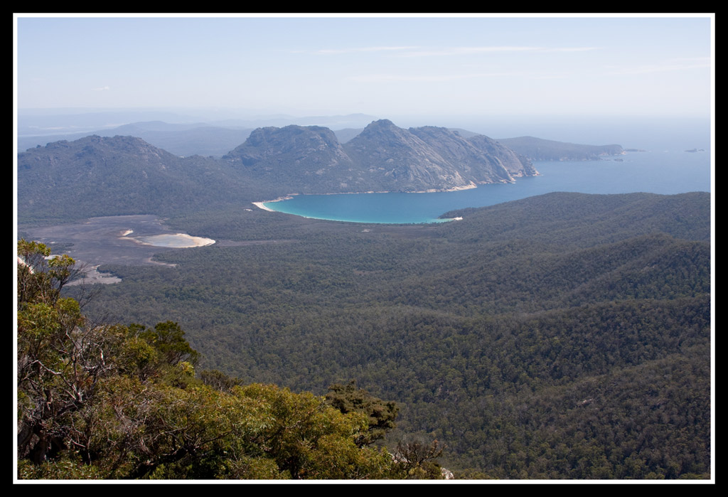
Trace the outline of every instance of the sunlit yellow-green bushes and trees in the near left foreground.
{"label": "sunlit yellow-green bushes and trees in the near left foreground", "polygon": [[436,453],[371,445],[393,426],[391,402],[381,411],[379,399],[333,387],[367,401],[344,412],[336,399],[219,371],[196,378],[199,354],[176,322],[95,324],[61,296],[71,258],[49,261],[24,239],[18,255],[21,479],[441,477]]}

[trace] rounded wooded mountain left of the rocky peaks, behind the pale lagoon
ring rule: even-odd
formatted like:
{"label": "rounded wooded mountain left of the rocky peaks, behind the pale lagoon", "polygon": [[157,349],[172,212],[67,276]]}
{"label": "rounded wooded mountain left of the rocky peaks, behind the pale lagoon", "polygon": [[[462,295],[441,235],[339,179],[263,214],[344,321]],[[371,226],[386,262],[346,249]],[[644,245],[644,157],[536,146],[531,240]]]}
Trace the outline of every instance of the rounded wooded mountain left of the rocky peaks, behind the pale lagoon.
{"label": "rounded wooded mountain left of the rocky peaks, behind the pale lagoon", "polygon": [[130,136],[49,143],[17,157],[19,222],[165,215],[250,202],[259,190],[223,162],[181,158]]}

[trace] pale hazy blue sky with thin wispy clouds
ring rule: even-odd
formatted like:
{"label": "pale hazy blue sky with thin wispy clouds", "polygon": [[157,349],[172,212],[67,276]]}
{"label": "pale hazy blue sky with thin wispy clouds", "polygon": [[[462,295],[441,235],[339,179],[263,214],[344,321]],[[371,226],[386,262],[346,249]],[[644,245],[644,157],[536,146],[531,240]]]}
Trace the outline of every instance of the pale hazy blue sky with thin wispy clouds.
{"label": "pale hazy blue sky with thin wispy clouds", "polygon": [[711,17],[17,17],[17,106],[685,115]]}

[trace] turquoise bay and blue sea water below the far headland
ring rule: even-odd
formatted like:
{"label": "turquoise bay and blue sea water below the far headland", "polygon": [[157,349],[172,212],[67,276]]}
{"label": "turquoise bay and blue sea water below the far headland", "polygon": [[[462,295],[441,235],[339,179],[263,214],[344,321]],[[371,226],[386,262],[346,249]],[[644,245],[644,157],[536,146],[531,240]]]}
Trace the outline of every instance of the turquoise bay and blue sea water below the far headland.
{"label": "turquoise bay and blue sea water below the far headland", "polygon": [[[622,159],[623,162],[614,159]],[[266,202],[278,212],[306,218],[357,223],[437,223],[449,210],[524,199],[553,191],[585,194],[648,192],[679,194],[711,191],[710,154],[685,151],[628,152],[609,160],[534,162],[540,176],[515,183],[481,185],[462,191],[424,194],[296,195]]]}

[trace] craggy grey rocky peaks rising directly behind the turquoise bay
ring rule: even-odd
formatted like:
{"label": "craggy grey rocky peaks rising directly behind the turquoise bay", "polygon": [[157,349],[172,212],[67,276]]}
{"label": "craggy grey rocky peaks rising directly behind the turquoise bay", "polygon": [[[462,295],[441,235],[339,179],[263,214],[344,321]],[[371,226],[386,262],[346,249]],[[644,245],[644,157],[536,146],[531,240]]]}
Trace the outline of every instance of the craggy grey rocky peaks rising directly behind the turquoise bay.
{"label": "craggy grey rocky peaks rising directly behind the turquoise bay", "polygon": [[538,174],[490,138],[466,140],[439,127],[405,130],[387,119],[343,146],[325,127],[258,128],[223,159],[298,193],[449,190]]}

